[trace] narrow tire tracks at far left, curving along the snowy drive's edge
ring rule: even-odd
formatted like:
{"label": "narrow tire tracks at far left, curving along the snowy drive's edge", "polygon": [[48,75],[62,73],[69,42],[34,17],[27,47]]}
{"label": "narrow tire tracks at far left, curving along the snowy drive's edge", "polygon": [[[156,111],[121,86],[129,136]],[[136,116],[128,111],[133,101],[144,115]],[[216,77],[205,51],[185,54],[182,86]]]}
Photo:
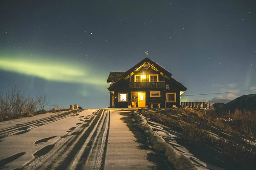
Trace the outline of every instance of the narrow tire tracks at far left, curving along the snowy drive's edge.
{"label": "narrow tire tracks at far left, curving along the snowy drive's edge", "polygon": [[[83,110],[81,110],[81,111],[83,111]],[[12,127],[2,129],[2,130],[0,130],[0,139],[3,139],[7,136],[15,135],[15,134],[18,135],[18,134],[26,133],[30,129],[33,129],[35,127],[39,127],[39,126],[46,125],[46,124],[51,123],[51,122],[58,121],[60,119],[64,119],[68,116],[72,116],[73,114],[77,114],[81,111],[77,111],[77,110],[67,111],[65,113],[50,116],[50,117],[47,117],[47,118],[44,118],[44,119],[39,119],[39,120],[24,123],[24,124],[21,124],[21,125],[15,125],[15,126],[12,126]]]}

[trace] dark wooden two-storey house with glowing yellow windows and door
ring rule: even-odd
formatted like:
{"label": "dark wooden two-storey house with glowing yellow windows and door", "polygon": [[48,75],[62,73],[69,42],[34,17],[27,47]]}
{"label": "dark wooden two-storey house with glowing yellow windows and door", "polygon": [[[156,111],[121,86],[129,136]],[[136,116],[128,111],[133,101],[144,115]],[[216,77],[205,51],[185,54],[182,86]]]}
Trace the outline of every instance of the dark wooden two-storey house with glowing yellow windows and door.
{"label": "dark wooden two-storey house with glowing yellow windows and door", "polygon": [[187,89],[147,57],[126,72],[110,72],[107,83],[110,108],[180,107],[180,94]]}

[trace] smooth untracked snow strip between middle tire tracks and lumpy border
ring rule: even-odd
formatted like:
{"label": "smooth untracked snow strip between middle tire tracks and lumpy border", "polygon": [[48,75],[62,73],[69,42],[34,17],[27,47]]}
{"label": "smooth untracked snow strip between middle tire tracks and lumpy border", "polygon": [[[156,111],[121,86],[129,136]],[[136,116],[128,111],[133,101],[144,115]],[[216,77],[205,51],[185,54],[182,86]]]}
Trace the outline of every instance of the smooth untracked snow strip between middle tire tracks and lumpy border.
{"label": "smooth untracked snow strip between middle tire tracks and lumpy border", "polygon": [[136,127],[130,109],[113,109],[110,112],[105,170],[171,170],[164,156],[148,147],[147,139]]}

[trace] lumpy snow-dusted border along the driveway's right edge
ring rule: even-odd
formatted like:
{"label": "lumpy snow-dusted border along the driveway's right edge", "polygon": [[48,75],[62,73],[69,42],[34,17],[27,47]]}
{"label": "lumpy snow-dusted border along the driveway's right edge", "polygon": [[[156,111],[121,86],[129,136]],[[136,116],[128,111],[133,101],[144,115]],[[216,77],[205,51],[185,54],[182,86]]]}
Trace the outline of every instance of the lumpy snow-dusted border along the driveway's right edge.
{"label": "lumpy snow-dusted border along the driveway's right edge", "polygon": [[137,120],[137,127],[142,129],[144,133],[150,139],[150,143],[155,150],[165,152],[165,156],[168,161],[174,164],[174,167],[177,170],[197,170],[194,164],[183,155],[175,150],[172,145],[166,143],[165,140],[155,133],[152,128],[148,125],[145,116],[142,116],[137,113],[137,111],[133,111],[132,113],[134,119]]}

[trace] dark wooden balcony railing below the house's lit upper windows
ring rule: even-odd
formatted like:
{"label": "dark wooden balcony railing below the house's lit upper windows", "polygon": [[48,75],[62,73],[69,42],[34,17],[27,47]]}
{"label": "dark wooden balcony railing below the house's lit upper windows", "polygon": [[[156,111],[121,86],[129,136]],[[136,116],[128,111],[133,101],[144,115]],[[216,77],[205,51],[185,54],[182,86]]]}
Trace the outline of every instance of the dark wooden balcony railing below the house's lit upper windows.
{"label": "dark wooden balcony railing below the house's lit upper windows", "polygon": [[165,88],[165,82],[129,82],[129,88]]}

